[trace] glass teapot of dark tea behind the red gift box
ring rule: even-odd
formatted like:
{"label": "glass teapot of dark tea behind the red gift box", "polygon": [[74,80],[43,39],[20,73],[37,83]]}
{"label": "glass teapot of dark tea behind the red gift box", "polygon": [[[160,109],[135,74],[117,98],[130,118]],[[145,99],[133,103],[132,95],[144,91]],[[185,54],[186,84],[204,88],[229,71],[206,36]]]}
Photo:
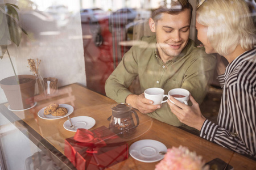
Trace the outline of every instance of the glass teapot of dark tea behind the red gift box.
{"label": "glass teapot of dark tea behind the red gift box", "polygon": [[[128,138],[136,132],[139,125],[138,114],[132,109],[130,104],[117,103],[112,105],[112,117],[109,129],[122,138]],[[133,120],[133,114],[136,117],[137,125]]]}

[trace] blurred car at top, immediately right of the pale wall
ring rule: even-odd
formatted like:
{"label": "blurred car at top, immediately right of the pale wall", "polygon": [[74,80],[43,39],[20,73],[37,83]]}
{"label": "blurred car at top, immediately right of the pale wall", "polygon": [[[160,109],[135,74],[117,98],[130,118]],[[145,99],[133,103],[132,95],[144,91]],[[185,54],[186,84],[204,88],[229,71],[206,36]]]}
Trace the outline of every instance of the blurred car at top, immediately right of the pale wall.
{"label": "blurred car at top, immediately right of the pale wall", "polygon": [[108,12],[101,8],[88,8],[80,11],[82,23],[96,23],[99,20],[108,19]]}

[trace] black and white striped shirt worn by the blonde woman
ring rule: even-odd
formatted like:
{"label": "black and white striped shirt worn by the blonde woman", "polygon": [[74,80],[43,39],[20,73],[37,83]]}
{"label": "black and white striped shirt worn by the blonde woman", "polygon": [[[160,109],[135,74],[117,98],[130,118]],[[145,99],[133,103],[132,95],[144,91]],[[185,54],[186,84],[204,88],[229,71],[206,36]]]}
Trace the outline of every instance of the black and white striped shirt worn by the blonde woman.
{"label": "black and white striped shirt worn by the blonde woman", "polygon": [[223,89],[217,124],[206,120],[200,137],[256,160],[256,48],[218,76]]}

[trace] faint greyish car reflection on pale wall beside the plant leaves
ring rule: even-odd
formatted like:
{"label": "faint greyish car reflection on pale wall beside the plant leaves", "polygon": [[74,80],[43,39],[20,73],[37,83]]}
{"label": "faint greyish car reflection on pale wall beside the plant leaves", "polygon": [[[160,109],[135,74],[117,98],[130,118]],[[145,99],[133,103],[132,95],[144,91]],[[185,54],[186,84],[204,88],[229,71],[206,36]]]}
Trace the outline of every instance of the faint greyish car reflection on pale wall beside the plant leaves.
{"label": "faint greyish car reflection on pale wall beside the plant leaves", "polygon": [[55,19],[46,12],[20,11],[20,24],[27,33],[33,33],[34,37],[40,37],[42,32],[57,31]]}

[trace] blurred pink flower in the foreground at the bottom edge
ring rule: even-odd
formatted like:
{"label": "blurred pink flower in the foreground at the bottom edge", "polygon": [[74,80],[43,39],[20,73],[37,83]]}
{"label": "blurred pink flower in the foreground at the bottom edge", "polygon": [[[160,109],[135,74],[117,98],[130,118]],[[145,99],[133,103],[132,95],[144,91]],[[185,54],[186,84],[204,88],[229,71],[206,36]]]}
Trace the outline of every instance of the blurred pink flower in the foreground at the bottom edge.
{"label": "blurred pink flower in the foreground at the bottom edge", "polygon": [[191,152],[187,147],[172,147],[167,150],[164,159],[155,167],[155,170],[208,170],[205,162],[196,152]]}

